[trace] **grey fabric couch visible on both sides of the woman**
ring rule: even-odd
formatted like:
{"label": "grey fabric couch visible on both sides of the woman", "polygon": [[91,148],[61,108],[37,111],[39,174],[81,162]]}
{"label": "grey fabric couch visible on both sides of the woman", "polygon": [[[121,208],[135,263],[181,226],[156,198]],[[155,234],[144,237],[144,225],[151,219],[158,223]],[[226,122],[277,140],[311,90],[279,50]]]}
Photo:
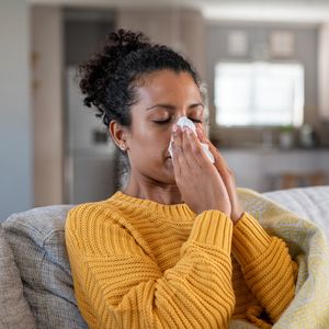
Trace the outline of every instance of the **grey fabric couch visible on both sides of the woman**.
{"label": "grey fabric couch visible on both sides of the woman", "polygon": [[[329,186],[264,193],[329,237]],[[73,295],[64,226],[71,205],[13,214],[0,226],[0,329],[87,328]]]}

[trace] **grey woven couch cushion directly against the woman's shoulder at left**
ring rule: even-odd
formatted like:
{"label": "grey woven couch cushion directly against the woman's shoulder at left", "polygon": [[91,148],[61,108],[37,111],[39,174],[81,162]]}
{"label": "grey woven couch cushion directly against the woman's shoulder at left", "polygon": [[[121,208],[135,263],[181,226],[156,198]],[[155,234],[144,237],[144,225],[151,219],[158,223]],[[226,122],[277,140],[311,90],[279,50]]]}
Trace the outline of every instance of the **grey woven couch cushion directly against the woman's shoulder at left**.
{"label": "grey woven couch cushion directly against the woman's shoulder at left", "polygon": [[73,294],[65,247],[69,205],[11,215],[2,225],[37,328],[87,328]]}

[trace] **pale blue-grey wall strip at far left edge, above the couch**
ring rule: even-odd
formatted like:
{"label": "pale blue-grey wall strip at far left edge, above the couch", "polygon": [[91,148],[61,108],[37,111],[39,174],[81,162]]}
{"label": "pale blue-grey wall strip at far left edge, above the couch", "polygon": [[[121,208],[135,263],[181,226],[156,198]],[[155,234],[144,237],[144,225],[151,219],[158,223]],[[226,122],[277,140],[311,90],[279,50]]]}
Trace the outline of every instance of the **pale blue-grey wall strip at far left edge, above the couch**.
{"label": "pale blue-grey wall strip at far left edge, above the couch", "polygon": [[33,205],[29,8],[0,2],[0,220]]}

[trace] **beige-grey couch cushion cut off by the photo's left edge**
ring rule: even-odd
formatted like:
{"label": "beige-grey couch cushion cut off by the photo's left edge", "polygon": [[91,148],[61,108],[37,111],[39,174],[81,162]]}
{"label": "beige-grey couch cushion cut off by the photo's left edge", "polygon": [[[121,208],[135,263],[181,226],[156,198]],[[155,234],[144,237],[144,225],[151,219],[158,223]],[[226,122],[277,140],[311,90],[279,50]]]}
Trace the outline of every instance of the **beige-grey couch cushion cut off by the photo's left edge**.
{"label": "beige-grey couch cushion cut off by the photo's left edge", "polygon": [[0,329],[33,329],[35,322],[23,295],[20,271],[0,225]]}

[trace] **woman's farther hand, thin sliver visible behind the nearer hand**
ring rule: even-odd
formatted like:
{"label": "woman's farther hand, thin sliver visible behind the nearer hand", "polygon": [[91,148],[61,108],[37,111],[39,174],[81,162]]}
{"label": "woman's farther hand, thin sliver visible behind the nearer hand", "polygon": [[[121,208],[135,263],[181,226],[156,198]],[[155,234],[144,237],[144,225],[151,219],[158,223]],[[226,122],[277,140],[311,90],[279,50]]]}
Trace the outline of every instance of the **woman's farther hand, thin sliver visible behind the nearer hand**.
{"label": "woman's farther hand, thin sliver visible behind the nearer hand", "polygon": [[205,143],[208,145],[209,151],[213,154],[215,158],[214,166],[216,167],[217,171],[219,172],[224,184],[226,186],[227,193],[229,195],[230,204],[231,204],[231,220],[236,224],[242,216],[243,209],[239,203],[238,194],[237,194],[237,186],[236,186],[236,179],[235,173],[232,170],[227,166],[224,157],[220,155],[219,150],[206,138],[202,124],[196,125],[196,134],[201,143]]}

